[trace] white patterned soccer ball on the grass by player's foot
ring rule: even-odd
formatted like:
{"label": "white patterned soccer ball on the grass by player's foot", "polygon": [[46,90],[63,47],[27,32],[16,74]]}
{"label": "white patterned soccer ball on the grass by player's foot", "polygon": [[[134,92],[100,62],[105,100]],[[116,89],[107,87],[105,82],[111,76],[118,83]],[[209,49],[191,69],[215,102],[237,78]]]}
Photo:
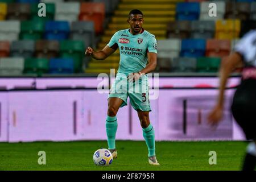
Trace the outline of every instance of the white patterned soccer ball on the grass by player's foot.
{"label": "white patterned soccer ball on the grass by player's foot", "polygon": [[93,154],[93,162],[97,166],[109,166],[113,161],[111,152],[106,148],[98,149]]}

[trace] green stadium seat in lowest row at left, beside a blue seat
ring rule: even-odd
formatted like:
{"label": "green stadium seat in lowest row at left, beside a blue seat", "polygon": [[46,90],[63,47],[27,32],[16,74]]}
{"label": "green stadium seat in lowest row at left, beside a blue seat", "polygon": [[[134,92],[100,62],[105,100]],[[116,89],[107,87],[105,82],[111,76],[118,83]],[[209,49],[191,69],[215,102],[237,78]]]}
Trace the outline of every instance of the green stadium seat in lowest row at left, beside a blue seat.
{"label": "green stadium seat in lowest row at left, beside a blue seat", "polygon": [[25,60],[23,73],[35,73],[38,76],[42,76],[49,71],[49,61],[44,58],[29,58]]}

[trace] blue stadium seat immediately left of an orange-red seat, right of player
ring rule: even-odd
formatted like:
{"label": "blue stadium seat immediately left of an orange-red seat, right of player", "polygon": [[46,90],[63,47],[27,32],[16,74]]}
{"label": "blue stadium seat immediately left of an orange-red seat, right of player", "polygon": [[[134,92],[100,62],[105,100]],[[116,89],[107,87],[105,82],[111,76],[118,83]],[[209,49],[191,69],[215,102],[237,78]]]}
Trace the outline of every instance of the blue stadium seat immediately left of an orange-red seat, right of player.
{"label": "blue stadium seat immediately left of an orange-red seat, right of player", "polygon": [[202,57],[205,55],[205,39],[183,39],[181,41],[181,57]]}

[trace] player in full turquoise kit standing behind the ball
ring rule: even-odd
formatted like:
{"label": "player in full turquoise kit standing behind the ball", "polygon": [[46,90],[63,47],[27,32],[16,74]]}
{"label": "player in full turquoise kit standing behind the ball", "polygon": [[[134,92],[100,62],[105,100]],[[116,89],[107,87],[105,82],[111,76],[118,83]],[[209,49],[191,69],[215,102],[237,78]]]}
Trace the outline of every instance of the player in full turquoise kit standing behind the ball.
{"label": "player in full turquoise kit standing behind the ball", "polygon": [[[155,155],[155,132],[150,123],[150,101],[148,94],[147,73],[156,68],[156,39],[150,32],[142,28],[143,14],[140,10],[131,10],[127,19],[130,28],[115,32],[110,42],[101,51],[94,51],[88,47],[86,55],[94,59],[104,60],[117,48],[120,51],[120,62],[115,82],[110,89],[108,97],[108,116],[106,118],[106,134],[108,137],[109,150],[113,158],[117,158],[115,148],[115,133],[117,131],[117,111],[119,107],[127,105],[127,97],[130,98],[131,106],[137,110],[141,122],[143,137],[148,148],[148,162],[159,166]],[[148,62],[148,64],[147,64]],[[139,82],[140,92],[130,92],[130,83]],[[122,85],[118,87],[118,85]],[[127,86],[129,85],[129,86]]]}

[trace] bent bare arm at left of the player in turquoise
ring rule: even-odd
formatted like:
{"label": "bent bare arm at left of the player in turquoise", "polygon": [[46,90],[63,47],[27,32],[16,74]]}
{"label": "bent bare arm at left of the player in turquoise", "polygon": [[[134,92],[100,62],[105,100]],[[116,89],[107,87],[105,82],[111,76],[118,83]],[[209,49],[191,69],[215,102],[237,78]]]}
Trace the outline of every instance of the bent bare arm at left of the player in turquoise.
{"label": "bent bare arm at left of the player in turquoise", "polygon": [[115,49],[110,48],[109,46],[105,46],[104,49],[102,49],[101,51],[94,51],[93,48],[88,47],[86,48],[85,55],[92,56],[94,59],[97,60],[104,60],[109,57],[113,52],[115,52]]}

